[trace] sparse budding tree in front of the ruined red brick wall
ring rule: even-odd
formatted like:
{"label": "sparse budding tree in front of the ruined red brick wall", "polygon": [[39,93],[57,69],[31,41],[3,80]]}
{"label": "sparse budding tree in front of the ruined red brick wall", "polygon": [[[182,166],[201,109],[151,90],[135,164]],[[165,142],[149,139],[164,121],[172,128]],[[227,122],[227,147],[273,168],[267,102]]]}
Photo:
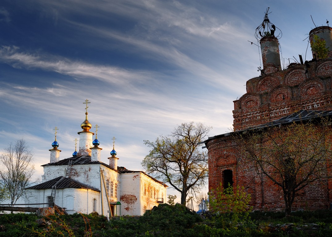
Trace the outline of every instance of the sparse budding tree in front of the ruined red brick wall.
{"label": "sparse budding tree in front of the ruined red brick wall", "polygon": [[282,189],[286,215],[300,190],[331,177],[328,170],[332,164],[332,134],[328,119],[300,120],[236,134],[240,150],[253,162],[258,175],[266,176]]}

